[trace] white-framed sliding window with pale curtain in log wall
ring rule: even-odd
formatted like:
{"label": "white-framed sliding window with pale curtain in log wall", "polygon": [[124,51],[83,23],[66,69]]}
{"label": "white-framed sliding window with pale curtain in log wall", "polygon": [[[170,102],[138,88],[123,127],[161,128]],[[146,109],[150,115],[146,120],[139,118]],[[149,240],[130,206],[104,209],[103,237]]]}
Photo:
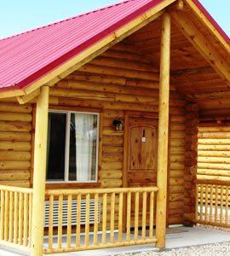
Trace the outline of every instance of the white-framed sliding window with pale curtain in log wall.
{"label": "white-framed sliding window with pale curtain in log wall", "polygon": [[98,113],[49,111],[47,181],[96,182]]}

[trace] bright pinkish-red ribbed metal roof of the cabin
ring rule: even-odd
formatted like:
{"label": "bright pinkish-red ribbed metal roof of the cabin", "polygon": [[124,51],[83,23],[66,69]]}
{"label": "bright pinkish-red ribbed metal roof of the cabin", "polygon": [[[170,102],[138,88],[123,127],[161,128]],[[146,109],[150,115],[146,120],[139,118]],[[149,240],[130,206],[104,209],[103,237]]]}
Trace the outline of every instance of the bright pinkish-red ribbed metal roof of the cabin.
{"label": "bright pinkish-red ribbed metal roof of the cabin", "polygon": [[[0,90],[24,89],[165,0],[127,0],[0,40]],[[204,14],[217,27],[198,3]],[[218,26],[218,31],[228,40]]]}

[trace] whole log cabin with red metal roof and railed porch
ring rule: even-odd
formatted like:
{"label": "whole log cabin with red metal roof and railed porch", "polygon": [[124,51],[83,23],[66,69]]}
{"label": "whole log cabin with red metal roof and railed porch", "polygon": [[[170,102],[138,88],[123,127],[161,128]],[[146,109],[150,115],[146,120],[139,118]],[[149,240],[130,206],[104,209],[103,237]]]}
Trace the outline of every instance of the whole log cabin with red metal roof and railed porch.
{"label": "whole log cabin with red metal roof and railed porch", "polygon": [[198,0],[127,0],[3,38],[0,60],[2,245],[230,227],[230,39]]}

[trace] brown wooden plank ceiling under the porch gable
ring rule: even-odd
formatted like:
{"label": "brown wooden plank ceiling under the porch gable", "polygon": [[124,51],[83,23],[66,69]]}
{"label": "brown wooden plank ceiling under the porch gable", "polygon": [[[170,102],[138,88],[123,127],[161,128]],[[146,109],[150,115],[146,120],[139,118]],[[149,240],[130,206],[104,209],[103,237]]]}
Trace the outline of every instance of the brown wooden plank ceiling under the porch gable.
{"label": "brown wooden plank ceiling under the porch gable", "polygon": [[[226,49],[213,37],[210,30],[204,26],[201,20],[192,12],[187,4],[184,10],[188,20],[204,35],[217,55],[223,58],[230,67],[230,55],[226,55]],[[199,108],[230,108],[230,81],[224,79],[220,73],[210,65],[210,61],[186,38],[181,32],[175,19],[171,27],[171,76],[170,82],[175,85],[187,100],[197,102]],[[155,67],[159,65],[161,20],[152,21],[151,24],[135,32],[124,40],[124,44],[134,44],[136,50],[151,61]],[[228,68],[227,67],[227,68]]]}

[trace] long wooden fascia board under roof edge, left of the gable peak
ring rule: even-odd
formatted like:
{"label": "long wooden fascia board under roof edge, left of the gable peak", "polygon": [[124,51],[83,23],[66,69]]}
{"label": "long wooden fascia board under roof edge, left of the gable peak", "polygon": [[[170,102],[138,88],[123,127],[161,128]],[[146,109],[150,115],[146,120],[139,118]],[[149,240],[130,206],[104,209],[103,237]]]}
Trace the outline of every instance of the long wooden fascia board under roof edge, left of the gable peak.
{"label": "long wooden fascia board under roof edge, left of the gable peak", "polygon": [[[116,32],[113,32],[106,38],[101,39],[100,42],[85,49],[81,54],[73,57],[71,60],[66,61],[60,67],[55,68],[52,72],[38,79],[33,84],[29,85],[24,91],[26,94],[31,93],[33,90],[47,84],[52,86],[56,84],[60,79],[65,78],[68,74],[78,70],[85,63],[89,62],[97,55],[101,55],[106,49],[109,49],[112,45],[117,44],[124,38],[128,37],[133,32],[139,30],[142,26],[146,26],[152,20],[157,19],[164,13],[164,8],[169,6],[171,3],[175,3],[176,0],[167,0],[159,3],[157,6],[148,10],[145,14],[139,16],[135,20],[130,21],[127,25],[119,28]],[[0,92],[1,97],[1,92]]]}

